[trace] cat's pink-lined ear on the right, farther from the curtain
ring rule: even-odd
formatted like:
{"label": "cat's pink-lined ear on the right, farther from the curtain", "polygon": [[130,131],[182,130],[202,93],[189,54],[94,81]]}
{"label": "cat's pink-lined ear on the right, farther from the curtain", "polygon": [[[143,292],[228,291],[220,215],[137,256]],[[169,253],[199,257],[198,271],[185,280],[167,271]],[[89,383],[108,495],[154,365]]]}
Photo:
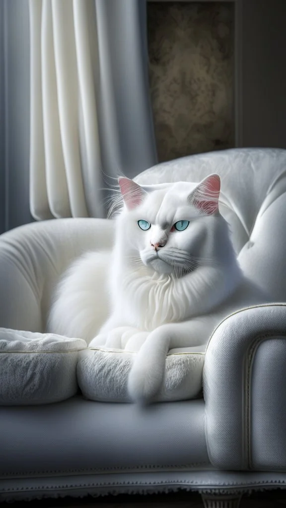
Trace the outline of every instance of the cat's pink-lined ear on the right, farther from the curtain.
{"label": "cat's pink-lined ear on the right, farther from the curtain", "polygon": [[212,215],[218,211],[219,192],[219,176],[216,174],[209,175],[191,192],[188,201],[192,206],[198,208],[199,211]]}

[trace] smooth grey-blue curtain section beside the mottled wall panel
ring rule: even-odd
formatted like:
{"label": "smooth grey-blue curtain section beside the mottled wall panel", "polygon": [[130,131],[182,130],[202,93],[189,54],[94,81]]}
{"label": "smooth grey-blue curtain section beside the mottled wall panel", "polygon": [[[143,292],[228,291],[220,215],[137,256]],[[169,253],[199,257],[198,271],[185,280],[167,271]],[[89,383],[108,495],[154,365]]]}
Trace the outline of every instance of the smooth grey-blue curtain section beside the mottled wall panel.
{"label": "smooth grey-blue curtain section beside the mottled wall panel", "polygon": [[102,160],[130,178],[157,162],[148,81],[146,0],[95,0]]}

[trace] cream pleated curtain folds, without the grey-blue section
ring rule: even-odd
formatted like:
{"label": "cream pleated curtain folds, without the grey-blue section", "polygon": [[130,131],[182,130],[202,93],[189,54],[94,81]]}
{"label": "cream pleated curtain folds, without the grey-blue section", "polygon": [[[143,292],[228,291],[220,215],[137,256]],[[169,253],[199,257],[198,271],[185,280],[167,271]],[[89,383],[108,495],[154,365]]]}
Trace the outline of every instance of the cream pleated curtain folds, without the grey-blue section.
{"label": "cream pleated curtain folds, without the grey-blue section", "polygon": [[[100,187],[100,147],[86,0],[30,0],[30,207],[37,220],[87,217],[82,165]],[[94,37],[96,40],[96,37]],[[83,156],[85,155],[85,157]],[[102,201],[93,198],[96,216]]]}

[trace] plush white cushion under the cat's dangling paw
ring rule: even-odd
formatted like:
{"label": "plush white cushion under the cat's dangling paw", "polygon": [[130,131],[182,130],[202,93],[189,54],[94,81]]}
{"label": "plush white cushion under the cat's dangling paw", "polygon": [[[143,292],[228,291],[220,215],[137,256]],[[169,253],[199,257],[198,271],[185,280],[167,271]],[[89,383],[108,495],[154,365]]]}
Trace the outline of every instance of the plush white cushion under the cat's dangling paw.
{"label": "plush white cushion under the cat's dangling paw", "polygon": [[[169,351],[163,386],[156,401],[202,397],[205,348],[197,346]],[[83,396],[102,402],[132,402],[127,391],[127,379],[136,354],[103,347],[89,347],[81,351],[77,382]]]}

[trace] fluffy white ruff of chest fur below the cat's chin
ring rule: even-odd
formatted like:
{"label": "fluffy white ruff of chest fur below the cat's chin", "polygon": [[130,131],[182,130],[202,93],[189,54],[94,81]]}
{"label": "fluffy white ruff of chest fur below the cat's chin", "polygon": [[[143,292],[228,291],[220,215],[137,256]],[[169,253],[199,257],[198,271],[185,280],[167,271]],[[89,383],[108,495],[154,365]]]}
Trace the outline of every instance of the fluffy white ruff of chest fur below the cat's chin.
{"label": "fluffy white ruff of chest fur below the cat's chin", "polygon": [[114,266],[113,312],[131,326],[147,331],[205,314],[231,294],[241,278],[237,266],[231,273],[204,266],[180,279],[146,267],[121,267],[119,276]]}

